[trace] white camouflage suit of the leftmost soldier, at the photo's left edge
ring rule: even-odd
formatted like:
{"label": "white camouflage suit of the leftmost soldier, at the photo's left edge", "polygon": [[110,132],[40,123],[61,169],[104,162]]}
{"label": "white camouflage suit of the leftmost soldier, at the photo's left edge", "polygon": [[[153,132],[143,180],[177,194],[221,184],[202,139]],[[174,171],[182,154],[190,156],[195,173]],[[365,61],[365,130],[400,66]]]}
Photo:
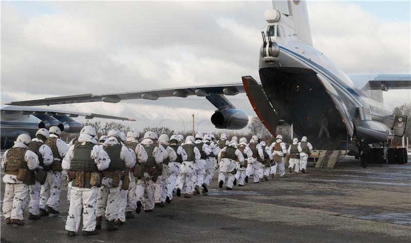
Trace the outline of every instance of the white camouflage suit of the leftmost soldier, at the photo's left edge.
{"label": "white camouflage suit of the leftmost soldier, at the photo's left edge", "polygon": [[[27,148],[26,144],[21,142],[14,142],[13,147]],[[3,171],[6,169],[5,164],[7,163],[8,151],[9,149],[3,155],[1,163]],[[27,167],[29,170],[35,170],[39,166],[39,158],[32,151],[26,151],[24,160],[27,162]],[[6,183],[3,198],[4,217],[23,220],[23,211],[27,204],[29,186],[24,184],[23,181],[17,180],[15,175],[9,174],[5,174],[3,176],[3,182]],[[37,212],[36,215],[39,215],[39,212]]]}

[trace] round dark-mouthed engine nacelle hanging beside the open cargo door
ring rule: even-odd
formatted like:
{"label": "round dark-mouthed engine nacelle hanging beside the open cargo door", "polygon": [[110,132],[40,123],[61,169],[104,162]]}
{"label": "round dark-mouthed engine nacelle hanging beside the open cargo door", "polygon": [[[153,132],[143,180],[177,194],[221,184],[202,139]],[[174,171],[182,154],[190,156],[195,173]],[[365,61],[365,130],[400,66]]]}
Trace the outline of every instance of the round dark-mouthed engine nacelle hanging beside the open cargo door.
{"label": "round dark-mouthed engine nacelle hanging beside the open cargo door", "polygon": [[211,116],[211,122],[220,129],[242,129],[248,124],[247,114],[239,109],[216,110]]}

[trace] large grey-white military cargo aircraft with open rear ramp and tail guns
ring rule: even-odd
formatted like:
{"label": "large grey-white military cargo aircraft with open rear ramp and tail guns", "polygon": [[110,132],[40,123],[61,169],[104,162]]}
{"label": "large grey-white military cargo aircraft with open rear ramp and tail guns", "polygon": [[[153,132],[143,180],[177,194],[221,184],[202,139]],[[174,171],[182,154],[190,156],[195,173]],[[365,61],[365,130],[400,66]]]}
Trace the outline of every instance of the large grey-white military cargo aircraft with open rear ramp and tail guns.
{"label": "large grey-white military cargo aircraft with open rear ramp and tail guns", "polygon": [[[195,95],[205,97],[217,108],[211,117],[216,128],[241,129],[247,126],[248,116],[227,96],[246,92],[255,113],[274,136],[278,123],[284,121],[293,125],[297,136],[309,136],[312,143],[324,151],[351,150],[356,155],[356,147],[350,144],[365,139],[379,145],[383,159],[387,159],[387,149],[394,136],[404,135],[407,117],[394,114],[384,103],[382,92],[411,89],[411,75],[344,73],[312,46],[305,1],[273,1],[273,9],[267,10],[264,17],[267,28],[261,31],[260,83],[246,76],[242,77],[242,83],[84,94],[10,104],[117,103]],[[322,116],[328,120],[330,139],[317,138]]]}

